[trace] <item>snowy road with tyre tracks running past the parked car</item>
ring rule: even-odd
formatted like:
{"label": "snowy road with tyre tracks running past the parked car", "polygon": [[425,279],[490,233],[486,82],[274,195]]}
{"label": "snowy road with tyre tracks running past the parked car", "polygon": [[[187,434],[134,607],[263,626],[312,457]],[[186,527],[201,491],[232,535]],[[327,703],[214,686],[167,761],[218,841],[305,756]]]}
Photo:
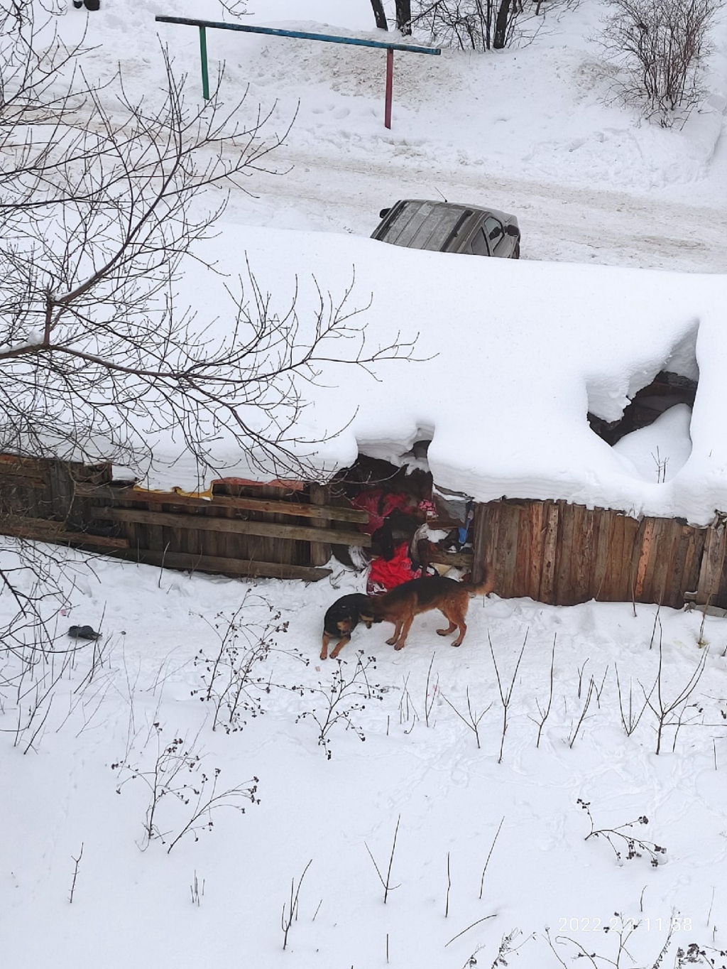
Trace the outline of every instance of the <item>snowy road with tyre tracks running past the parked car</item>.
{"label": "snowy road with tyre tracks running past the parked car", "polygon": [[[492,204],[513,211],[523,230],[523,258],[610,266],[724,272],[725,211],[623,192],[505,177],[462,165],[456,172],[410,157],[314,156],[280,148],[278,169],[255,178],[257,198],[239,193],[227,219],[280,229],[369,235],[379,209],[400,198]],[[684,193],[689,192],[684,187]]]}

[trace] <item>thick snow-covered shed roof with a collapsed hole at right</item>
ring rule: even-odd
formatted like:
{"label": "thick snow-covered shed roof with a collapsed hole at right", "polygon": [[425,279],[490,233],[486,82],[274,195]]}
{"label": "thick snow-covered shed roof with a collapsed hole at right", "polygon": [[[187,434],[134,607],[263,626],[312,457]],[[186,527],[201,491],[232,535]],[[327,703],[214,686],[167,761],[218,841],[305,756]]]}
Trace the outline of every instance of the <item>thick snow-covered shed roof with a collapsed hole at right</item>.
{"label": "thick snow-covered shed roof with a collapsed hole at right", "polygon": [[[375,376],[328,363],[316,386],[302,386],[310,406],[296,433],[328,437],[300,446],[321,474],[348,466],[359,450],[400,462],[414,441],[431,438],[435,481],[482,502],[565,499],[700,524],[727,510],[727,276],[504,261],[231,225],[206,245],[233,275],[247,253],[280,312],[297,278],[303,331],[318,300],[313,277],[335,300],[355,268],[351,304],[373,294],[358,318],[368,350],[397,332],[418,333],[416,360],[380,362]],[[216,308],[225,326],[223,280],[209,270],[191,267],[180,298],[200,319]],[[346,357],[346,344],[329,352]],[[698,378],[691,421],[682,408],[610,447],[588,412],[619,419],[661,370]],[[662,466],[668,459],[663,483],[657,447]],[[228,475],[250,476],[229,442],[213,453]],[[197,483],[197,467],[170,440],[157,440],[155,454],[151,485]]]}

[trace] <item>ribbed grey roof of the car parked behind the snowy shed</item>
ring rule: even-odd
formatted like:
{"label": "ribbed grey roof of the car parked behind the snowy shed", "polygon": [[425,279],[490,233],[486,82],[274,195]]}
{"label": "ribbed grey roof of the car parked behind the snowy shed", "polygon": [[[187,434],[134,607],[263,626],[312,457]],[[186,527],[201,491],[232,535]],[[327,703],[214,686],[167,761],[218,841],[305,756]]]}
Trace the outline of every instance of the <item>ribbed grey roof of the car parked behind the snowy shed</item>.
{"label": "ribbed grey roof of the car parked behind the snowy shed", "polygon": [[405,199],[392,206],[374,238],[409,249],[441,252],[455,243],[463,231],[469,231],[473,219],[479,221],[483,215],[494,215],[506,223],[515,221],[511,215],[481,205]]}

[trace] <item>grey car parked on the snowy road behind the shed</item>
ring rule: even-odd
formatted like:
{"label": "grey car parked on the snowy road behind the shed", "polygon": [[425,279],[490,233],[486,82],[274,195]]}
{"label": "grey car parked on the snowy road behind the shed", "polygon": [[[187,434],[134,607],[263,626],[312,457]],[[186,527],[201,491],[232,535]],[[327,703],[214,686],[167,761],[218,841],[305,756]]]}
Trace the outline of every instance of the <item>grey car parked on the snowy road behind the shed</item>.
{"label": "grey car parked on the snowy road behind the shed", "polygon": [[403,199],[379,212],[372,238],[409,249],[520,259],[520,228],[497,208]]}

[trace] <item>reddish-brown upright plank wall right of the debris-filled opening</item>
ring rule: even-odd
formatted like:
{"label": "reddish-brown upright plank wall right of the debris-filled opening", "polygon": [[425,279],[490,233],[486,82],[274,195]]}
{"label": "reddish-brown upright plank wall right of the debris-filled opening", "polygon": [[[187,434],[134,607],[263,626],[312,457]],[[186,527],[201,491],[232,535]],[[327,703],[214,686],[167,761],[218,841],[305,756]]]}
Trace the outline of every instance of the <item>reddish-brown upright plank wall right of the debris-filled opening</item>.
{"label": "reddish-brown upright plank wall right of the debris-filled opening", "polygon": [[474,578],[495,570],[503,598],[528,596],[559,606],[660,603],[681,609],[684,593],[727,608],[727,530],[678,518],[638,521],[564,501],[503,499],[479,505],[474,519]]}

